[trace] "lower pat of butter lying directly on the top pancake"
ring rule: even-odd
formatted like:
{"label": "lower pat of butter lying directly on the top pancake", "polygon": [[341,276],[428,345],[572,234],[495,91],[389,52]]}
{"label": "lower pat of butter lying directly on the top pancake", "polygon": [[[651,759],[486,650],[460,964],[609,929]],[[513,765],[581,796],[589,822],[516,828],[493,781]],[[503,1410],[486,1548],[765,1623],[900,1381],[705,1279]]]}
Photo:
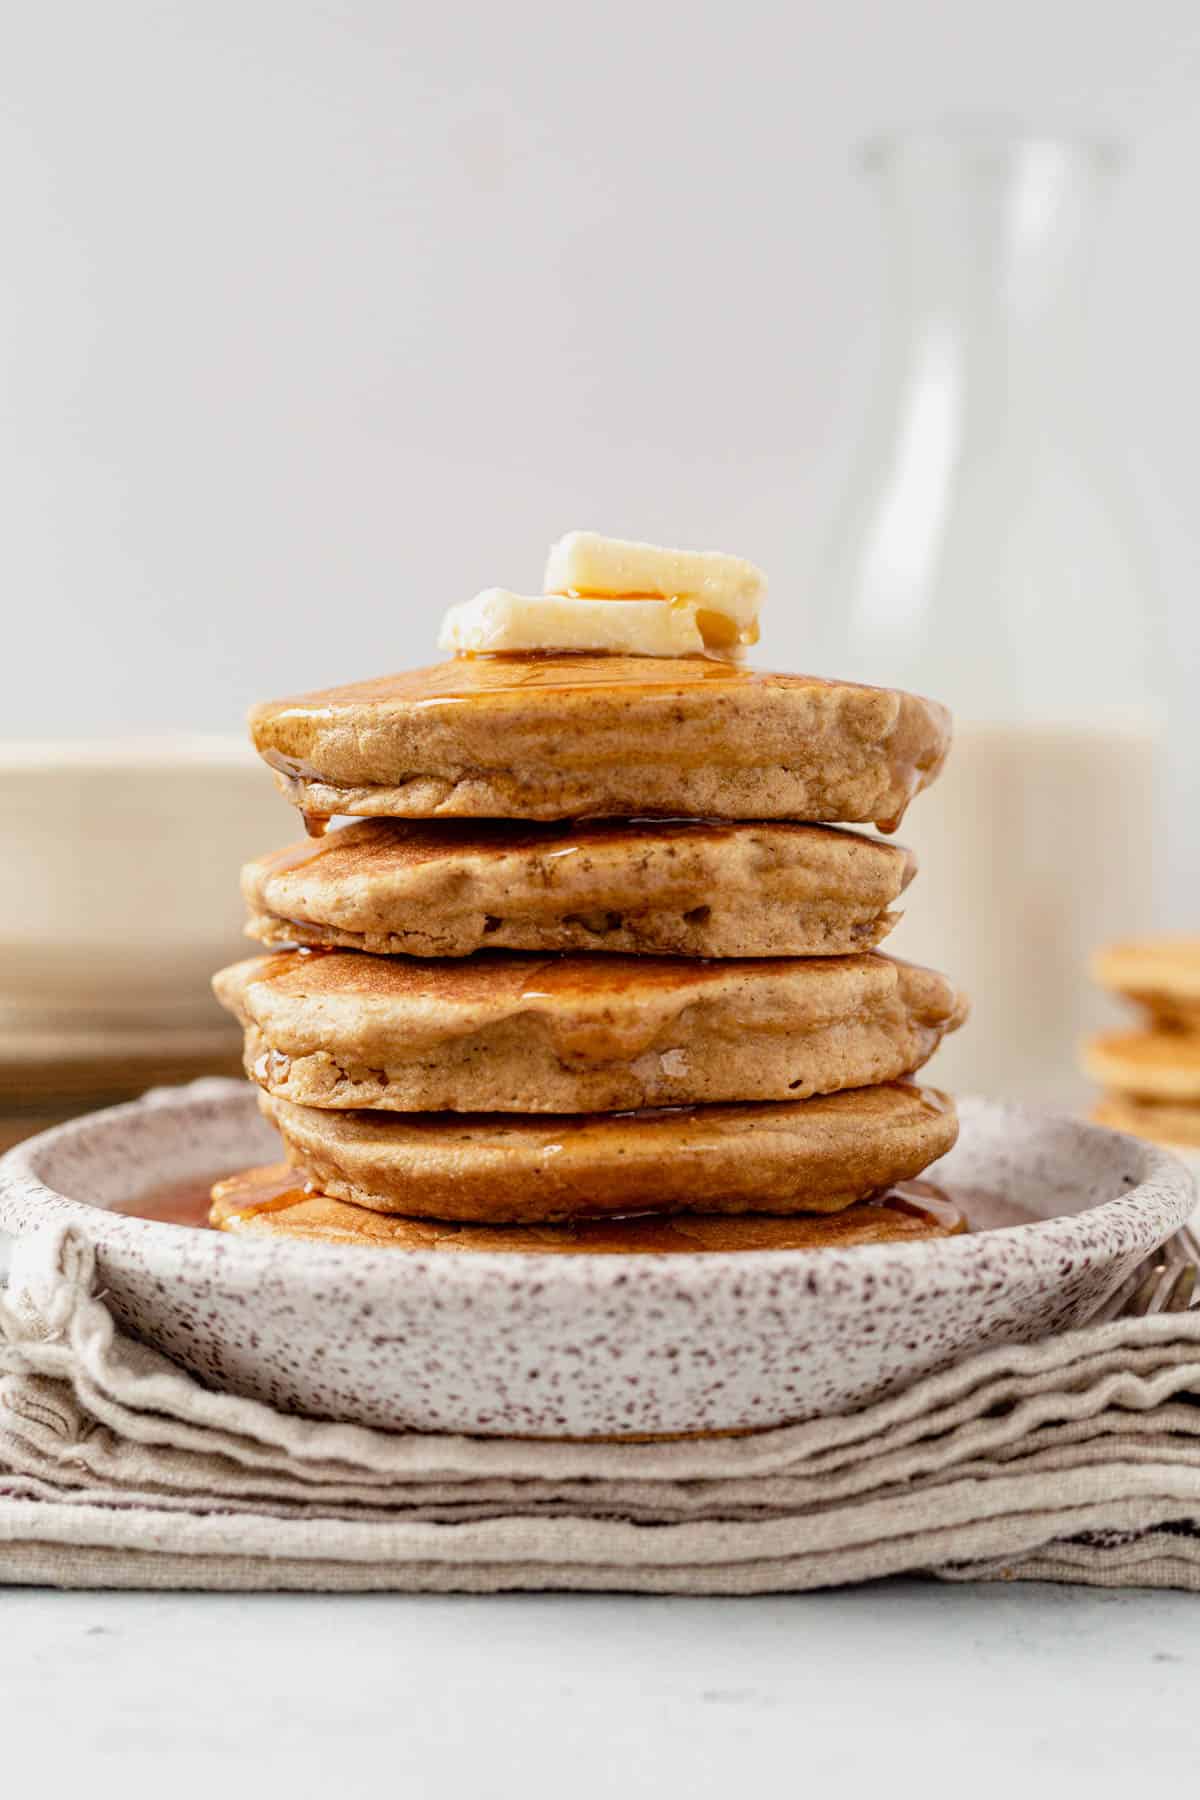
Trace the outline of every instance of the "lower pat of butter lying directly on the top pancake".
{"label": "lower pat of butter lying directly on the top pancake", "polygon": [[578,599],[488,587],[450,607],[439,650],[592,650],[628,657],[698,657],[707,644],[698,605],[676,599]]}

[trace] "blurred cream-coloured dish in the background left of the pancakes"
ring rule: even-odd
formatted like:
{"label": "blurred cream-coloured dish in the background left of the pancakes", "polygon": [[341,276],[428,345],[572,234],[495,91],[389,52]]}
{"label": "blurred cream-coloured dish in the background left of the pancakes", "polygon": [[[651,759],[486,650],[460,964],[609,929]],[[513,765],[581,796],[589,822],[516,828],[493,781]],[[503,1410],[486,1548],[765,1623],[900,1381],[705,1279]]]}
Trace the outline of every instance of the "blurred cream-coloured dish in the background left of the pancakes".
{"label": "blurred cream-coloured dish in the background left of the pancakes", "polygon": [[0,743],[0,1026],[223,1031],[230,869],[286,835],[241,738]]}

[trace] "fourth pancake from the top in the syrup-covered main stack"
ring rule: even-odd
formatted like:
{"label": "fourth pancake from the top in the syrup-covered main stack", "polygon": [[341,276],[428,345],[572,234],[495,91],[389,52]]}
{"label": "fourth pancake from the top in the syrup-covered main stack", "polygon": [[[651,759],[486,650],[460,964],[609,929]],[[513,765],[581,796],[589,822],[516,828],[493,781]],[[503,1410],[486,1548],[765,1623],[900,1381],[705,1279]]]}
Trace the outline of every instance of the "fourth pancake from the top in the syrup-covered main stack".
{"label": "fourth pancake from the top in the syrup-covered main stack", "polygon": [[322,1193],[381,1213],[547,1220],[840,1211],[954,1147],[954,1103],[885,1082],[842,1094],[657,1112],[329,1112],[263,1094]]}

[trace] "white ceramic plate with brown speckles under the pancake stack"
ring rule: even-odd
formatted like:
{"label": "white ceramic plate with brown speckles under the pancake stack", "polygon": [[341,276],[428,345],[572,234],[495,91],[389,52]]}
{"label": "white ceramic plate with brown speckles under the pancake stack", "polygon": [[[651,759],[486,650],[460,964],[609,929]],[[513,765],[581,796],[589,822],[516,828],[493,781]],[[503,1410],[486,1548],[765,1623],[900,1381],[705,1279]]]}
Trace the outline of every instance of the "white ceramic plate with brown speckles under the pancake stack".
{"label": "white ceramic plate with brown speckles under the pancake stack", "polygon": [[988,1100],[932,1172],[972,1237],[738,1256],[421,1255],[112,1213],[277,1157],[239,1082],[164,1089],[18,1145],[0,1226],[70,1220],[121,1323],[203,1381],[423,1431],[730,1431],[878,1399],[1087,1319],[1193,1206],[1168,1152]]}

